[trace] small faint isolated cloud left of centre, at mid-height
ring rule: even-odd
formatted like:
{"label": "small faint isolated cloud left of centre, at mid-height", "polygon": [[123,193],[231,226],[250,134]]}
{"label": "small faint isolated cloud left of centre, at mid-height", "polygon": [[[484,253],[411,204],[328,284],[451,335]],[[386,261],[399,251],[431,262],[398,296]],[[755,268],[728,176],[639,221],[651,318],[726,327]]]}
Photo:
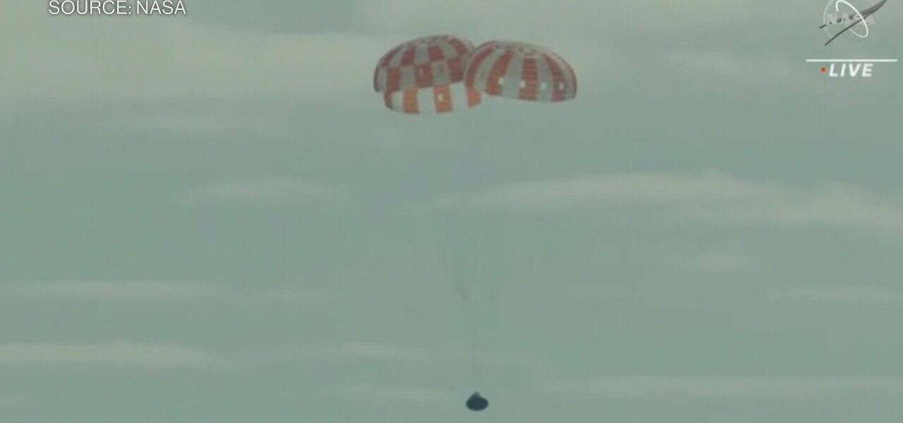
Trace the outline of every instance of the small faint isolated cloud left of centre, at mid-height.
{"label": "small faint isolated cloud left of centre, at mid-height", "polygon": [[209,184],[194,189],[192,197],[243,203],[282,203],[302,198],[323,198],[331,189],[288,179],[259,179]]}

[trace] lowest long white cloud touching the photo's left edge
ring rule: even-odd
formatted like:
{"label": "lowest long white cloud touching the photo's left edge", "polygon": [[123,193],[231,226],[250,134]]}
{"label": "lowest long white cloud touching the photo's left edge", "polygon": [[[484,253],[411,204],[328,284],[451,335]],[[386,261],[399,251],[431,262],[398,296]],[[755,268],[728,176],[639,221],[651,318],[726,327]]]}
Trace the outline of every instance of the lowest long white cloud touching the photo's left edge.
{"label": "lowest long white cloud touching the photo's left edge", "polygon": [[221,367],[228,362],[195,348],[130,342],[0,344],[0,366]]}

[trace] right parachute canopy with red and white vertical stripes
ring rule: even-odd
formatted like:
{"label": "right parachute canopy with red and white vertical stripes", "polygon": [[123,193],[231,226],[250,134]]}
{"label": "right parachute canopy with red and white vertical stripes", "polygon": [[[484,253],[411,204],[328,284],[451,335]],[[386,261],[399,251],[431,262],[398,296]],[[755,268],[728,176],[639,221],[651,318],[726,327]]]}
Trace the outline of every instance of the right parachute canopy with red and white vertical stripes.
{"label": "right parachute canopy with red and white vertical stripes", "polygon": [[577,96],[577,76],[558,53],[520,41],[488,41],[473,52],[464,83],[490,96],[558,102]]}

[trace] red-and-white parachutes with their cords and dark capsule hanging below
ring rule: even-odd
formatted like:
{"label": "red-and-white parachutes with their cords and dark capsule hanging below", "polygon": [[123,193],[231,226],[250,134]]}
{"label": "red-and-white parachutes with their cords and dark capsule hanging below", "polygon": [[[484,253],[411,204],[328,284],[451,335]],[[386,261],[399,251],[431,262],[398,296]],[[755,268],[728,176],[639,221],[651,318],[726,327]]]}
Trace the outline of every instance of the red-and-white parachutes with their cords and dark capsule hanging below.
{"label": "red-and-white parachutes with their cords and dark capsule hanging below", "polygon": [[[477,48],[473,45],[455,35],[431,35],[403,42],[377,61],[374,90],[382,94],[386,108],[408,115],[444,115],[479,106],[486,96],[552,103],[571,100],[577,95],[573,68],[554,51],[520,41],[488,41]],[[461,118],[459,135],[467,136],[468,123]],[[472,138],[479,138],[476,129],[471,134]],[[478,156],[477,152],[471,153],[471,159]],[[476,165],[469,167],[470,174],[479,174],[476,168]],[[476,260],[468,257],[473,245],[465,247],[464,239],[467,233],[483,234],[485,228],[464,227],[461,216],[451,220],[454,222],[449,225],[447,240],[452,247],[450,262],[462,305],[468,306],[473,288],[468,287],[468,282],[476,279],[479,272],[470,269]],[[488,296],[494,297],[495,293],[489,290]],[[476,338],[484,325],[470,322],[468,317],[473,316],[464,316],[464,326],[469,326],[470,336]],[[471,341],[473,382],[479,384],[477,341]],[[488,406],[489,401],[479,392],[467,400],[468,409],[474,411]]]}

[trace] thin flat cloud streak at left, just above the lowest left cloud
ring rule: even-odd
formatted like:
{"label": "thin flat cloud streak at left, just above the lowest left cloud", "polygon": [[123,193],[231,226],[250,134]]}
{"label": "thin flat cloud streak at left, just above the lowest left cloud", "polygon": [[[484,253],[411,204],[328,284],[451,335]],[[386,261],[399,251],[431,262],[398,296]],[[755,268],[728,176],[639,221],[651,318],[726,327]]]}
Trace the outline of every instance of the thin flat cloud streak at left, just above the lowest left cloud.
{"label": "thin flat cloud streak at left, just above the lowest left cloud", "polygon": [[167,300],[201,299],[219,293],[215,287],[162,280],[33,282],[13,288],[13,295],[27,299]]}

